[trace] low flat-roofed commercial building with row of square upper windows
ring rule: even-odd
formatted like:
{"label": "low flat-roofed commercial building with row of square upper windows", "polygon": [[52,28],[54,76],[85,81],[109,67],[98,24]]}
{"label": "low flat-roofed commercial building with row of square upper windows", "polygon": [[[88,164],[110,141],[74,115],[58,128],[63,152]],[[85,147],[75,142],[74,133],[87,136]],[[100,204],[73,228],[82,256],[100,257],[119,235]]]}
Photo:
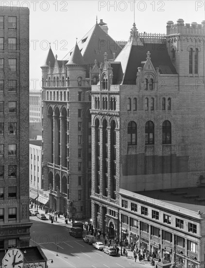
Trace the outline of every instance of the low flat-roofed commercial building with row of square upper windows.
{"label": "low flat-roofed commercial building with row of square upper windows", "polygon": [[119,193],[122,239],[177,268],[205,267],[203,187]]}

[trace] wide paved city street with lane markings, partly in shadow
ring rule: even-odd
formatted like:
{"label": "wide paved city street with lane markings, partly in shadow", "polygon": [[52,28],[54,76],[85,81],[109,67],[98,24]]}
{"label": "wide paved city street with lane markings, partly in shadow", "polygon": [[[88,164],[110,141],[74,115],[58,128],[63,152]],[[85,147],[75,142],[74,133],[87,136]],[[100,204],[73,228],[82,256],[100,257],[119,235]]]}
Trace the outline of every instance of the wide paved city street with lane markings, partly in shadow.
{"label": "wide paved city street with lane markings, partly in shadow", "polygon": [[[47,216],[48,218],[48,216]],[[69,228],[65,225],[51,224],[33,216],[31,228],[31,246],[40,246],[48,259],[49,268],[147,268],[147,263],[135,263],[134,258],[124,256],[109,256],[94,249],[81,238],[69,235]],[[103,239],[102,239],[103,240]],[[131,253],[131,252],[130,252]]]}

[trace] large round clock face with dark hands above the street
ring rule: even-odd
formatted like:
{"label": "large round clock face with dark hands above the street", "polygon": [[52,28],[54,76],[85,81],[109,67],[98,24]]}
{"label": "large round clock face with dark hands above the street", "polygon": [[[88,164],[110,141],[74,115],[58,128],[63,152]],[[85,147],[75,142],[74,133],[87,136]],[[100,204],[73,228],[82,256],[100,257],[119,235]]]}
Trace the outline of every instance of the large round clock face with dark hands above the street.
{"label": "large round clock face with dark hands above the street", "polygon": [[23,253],[20,249],[9,249],[2,260],[3,268],[23,268]]}

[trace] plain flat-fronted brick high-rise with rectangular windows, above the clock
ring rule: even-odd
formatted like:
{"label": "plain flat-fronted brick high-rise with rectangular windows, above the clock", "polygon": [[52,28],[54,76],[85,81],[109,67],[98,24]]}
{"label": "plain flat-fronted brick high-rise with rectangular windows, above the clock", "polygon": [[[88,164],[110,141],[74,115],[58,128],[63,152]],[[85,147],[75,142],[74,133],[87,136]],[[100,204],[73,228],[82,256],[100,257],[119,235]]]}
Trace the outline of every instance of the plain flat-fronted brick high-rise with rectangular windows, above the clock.
{"label": "plain flat-fronted brick high-rise with rectangular windows, above the clock", "polygon": [[29,9],[0,12],[0,248],[29,246]]}

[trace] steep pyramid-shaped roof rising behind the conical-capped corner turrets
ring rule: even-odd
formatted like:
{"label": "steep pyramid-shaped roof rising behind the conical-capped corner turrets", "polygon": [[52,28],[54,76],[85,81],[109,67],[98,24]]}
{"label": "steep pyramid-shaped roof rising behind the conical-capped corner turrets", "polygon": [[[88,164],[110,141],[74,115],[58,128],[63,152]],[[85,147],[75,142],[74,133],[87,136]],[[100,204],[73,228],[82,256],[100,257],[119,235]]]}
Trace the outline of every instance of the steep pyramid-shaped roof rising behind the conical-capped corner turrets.
{"label": "steep pyramid-shaped roof rising behind the conical-capped corner turrets", "polygon": [[[102,62],[105,52],[108,55],[108,59],[111,59],[113,58],[113,52],[118,56],[121,51],[121,47],[97,23],[78,42],[78,47],[86,64],[93,64],[95,59],[99,63]],[[74,48],[64,58],[69,60],[73,50]]]}

